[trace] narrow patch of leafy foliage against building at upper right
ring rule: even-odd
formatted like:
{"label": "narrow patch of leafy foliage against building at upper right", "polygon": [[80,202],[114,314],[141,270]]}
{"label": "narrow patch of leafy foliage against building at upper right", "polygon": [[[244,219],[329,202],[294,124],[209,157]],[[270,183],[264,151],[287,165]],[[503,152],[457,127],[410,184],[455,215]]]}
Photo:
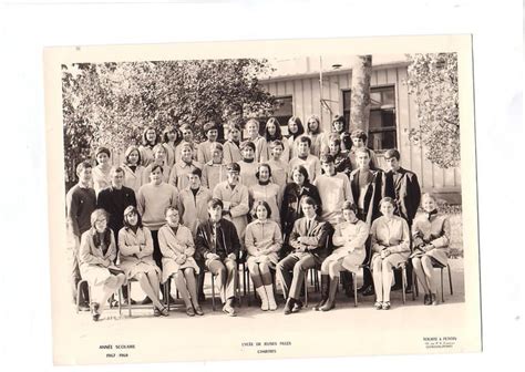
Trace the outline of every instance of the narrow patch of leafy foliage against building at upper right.
{"label": "narrow patch of leafy foliage against building at upper right", "polygon": [[409,54],[409,93],[418,105],[419,127],[411,141],[426,146],[426,158],[440,167],[457,166],[461,158],[457,54]]}

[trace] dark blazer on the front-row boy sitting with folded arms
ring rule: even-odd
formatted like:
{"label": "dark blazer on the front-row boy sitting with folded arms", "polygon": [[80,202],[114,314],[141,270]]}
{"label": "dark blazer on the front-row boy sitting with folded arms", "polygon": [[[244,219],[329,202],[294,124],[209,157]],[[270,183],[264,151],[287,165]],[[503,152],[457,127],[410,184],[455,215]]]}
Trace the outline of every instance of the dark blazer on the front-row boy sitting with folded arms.
{"label": "dark blazer on the front-row boy sitting with folded arms", "polygon": [[[319,216],[313,217],[309,229],[307,223],[308,218],[306,217],[296,220],[290,234],[290,247],[294,251],[306,247],[308,252],[323,259],[331,254],[330,244],[327,244],[331,225],[321,221]],[[298,241],[299,237],[302,238],[301,242]]]}

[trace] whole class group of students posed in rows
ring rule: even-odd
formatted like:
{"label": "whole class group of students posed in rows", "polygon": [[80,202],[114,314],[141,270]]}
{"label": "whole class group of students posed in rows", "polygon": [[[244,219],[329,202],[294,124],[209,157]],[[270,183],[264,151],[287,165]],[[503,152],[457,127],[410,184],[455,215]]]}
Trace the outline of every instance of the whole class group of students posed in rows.
{"label": "whole class group of students posed in rows", "polygon": [[[400,166],[397,149],[384,153],[383,172],[366,146],[366,133],[344,127],[337,115],[331,133],[323,133],[311,115],[305,131],[292,116],[285,137],[275,117],[264,135],[258,121],[237,121],[225,125],[227,138],[219,143],[219,127],[210,122],[199,144],[188,124],[162,136],[147,127],[142,145],[130,146],[116,167],[110,149],[97,148],[96,165],[79,164],[79,183],[66,195],[73,298],[80,296],[81,308],[99,320],[121,287],[134,302],[123,285],[135,279],[146,294],[143,302],[153,303],[155,316],[167,316],[159,292],[174,280],[187,316],[202,316],[209,271],[223,311],[235,316],[244,259],[265,311],[277,309],[274,272],[289,314],[302,308],[305,275],[319,269],[321,300],[313,309],[328,311],[340,277],[350,294],[348,272],[363,262],[370,265],[360,291],[375,293],[375,309],[390,309],[393,271],[402,262],[415,270],[424,303],[435,304],[433,266],[446,265],[446,217],[432,195],[421,197],[415,174]],[[421,199],[424,214],[414,219]],[[85,287],[76,293],[82,279],[91,299]]]}

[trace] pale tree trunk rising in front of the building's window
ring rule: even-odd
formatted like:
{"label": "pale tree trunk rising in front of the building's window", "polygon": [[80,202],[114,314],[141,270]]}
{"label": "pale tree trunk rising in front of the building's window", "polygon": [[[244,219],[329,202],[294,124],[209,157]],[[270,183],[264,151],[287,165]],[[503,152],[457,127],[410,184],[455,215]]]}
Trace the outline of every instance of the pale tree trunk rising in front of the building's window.
{"label": "pale tree trunk rising in front of the building's window", "polygon": [[362,130],[368,135],[370,120],[370,76],[372,55],[358,55],[352,63],[350,132]]}

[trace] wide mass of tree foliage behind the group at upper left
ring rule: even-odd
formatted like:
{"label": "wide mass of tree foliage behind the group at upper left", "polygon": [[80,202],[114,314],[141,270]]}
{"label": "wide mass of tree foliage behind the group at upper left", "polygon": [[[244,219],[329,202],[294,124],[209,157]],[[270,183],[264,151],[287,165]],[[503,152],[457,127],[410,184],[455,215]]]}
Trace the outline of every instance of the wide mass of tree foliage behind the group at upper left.
{"label": "wide mass of tree foliage behind the group at upper left", "polygon": [[275,99],[257,79],[269,71],[254,59],[62,65],[68,178],[96,146],[140,144],[146,126],[187,123],[202,138],[208,121],[271,114]]}

